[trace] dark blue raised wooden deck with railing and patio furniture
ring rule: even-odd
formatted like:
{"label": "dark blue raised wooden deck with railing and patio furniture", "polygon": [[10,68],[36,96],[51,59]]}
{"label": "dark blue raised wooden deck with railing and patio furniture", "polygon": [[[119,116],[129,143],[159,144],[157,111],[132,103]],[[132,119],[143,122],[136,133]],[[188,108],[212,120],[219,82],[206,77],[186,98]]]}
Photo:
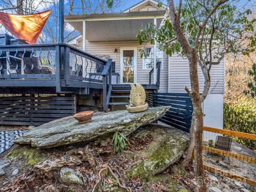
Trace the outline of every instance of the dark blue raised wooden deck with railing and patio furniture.
{"label": "dark blue raised wooden deck with railing and patio furniture", "polygon": [[[112,89],[130,87],[112,82],[113,63],[66,43],[0,46],[0,94],[100,92],[106,109]],[[149,83],[143,85],[152,92],[159,89],[160,67],[155,84],[151,83],[153,71],[149,72]]]}

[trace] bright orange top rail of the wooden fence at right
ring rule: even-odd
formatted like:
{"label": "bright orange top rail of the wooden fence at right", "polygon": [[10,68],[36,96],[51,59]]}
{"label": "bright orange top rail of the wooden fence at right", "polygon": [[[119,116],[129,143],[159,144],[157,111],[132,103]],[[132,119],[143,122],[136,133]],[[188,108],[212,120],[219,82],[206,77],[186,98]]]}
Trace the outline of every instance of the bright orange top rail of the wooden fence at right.
{"label": "bright orange top rail of the wooden fence at right", "polygon": [[230,135],[230,136],[234,136],[234,137],[240,137],[240,138],[244,138],[244,139],[251,139],[251,140],[256,141],[256,134],[243,133],[243,132],[238,132],[238,131],[222,130],[222,129],[216,129],[216,128],[207,127],[207,126],[204,126],[203,130],[214,132],[214,133]]}

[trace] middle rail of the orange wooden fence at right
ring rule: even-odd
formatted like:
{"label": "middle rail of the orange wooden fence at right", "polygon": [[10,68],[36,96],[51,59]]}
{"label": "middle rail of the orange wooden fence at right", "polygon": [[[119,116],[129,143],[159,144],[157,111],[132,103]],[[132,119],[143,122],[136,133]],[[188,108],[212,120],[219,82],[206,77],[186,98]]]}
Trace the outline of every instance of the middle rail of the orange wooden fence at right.
{"label": "middle rail of the orange wooden fence at right", "polygon": [[256,164],[256,158],[254,158],[254,157],[249,157],[249,156],[246,156],[246,155],[241,155],[241,154],[233,153],[233,152],[230,152],[230,151],[217,149],[217,148],[214,148],[214,147],[209,147],[209,146],[204,146],[204,145],[203,145],[203,150],[207,150],[207,151],[210,151],[212,153],[217,153],[219,155],[224,155],[224,156],[227,156],[227,157],[232,157],[232,158],[236,158],[236,159],[239,159],[239,160],[242,160],[242,161],[246,161],[246,162],[249,162],[249,163]]}

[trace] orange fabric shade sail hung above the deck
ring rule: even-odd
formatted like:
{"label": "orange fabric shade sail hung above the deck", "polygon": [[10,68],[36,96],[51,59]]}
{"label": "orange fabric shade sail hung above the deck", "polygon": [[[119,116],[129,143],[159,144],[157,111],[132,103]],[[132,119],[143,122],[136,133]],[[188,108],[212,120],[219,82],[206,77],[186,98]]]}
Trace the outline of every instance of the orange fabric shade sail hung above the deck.
{"label": "orange fabric shade sail hung above the deck", "polygon": [[31,15],[14,15],[0,12],[0,23],[18,39],[36,44],[52,10]]}

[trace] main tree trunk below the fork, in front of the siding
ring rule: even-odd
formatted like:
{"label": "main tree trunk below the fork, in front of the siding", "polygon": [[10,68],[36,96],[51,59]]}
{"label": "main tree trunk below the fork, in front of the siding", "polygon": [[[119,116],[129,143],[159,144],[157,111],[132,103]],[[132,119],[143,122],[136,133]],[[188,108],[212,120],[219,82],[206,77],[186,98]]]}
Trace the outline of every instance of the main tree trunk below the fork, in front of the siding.
{"label": "main tree trunk below the fork, in front of the siding", "polygon": [[199,93],[199,81],[197,74],[197,50],[192,49],[189,54],[189,73],[191,93],[190,97],[193,103],[193,133],[195,134],[195,174],[200,192],[207,191],[204,181],[203,170],[203,111],[201,106],[201,98]]}

